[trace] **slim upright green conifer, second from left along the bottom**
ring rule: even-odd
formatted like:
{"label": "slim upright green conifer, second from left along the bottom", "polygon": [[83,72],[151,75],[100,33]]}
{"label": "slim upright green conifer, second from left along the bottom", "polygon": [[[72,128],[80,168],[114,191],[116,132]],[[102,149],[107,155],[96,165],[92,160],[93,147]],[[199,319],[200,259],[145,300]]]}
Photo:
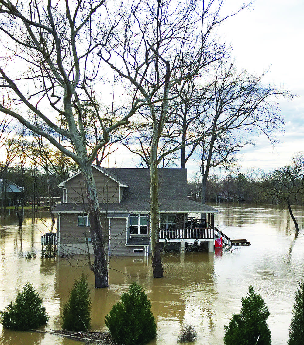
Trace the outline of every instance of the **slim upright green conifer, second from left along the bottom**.
{"label": "slim upright green conifer, second from left along the bottom", "polygon": [[88,331],[91,328],[91,297],[87,277],[82,273],[63,306],[62,328],[67,331]]}

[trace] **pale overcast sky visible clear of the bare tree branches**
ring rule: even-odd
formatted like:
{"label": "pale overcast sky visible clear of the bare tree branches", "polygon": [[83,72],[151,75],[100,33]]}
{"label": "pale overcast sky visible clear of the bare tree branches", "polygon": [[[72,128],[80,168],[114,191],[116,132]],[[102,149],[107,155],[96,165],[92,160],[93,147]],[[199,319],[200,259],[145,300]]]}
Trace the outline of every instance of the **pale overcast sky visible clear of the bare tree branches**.
{"label": "pale overcast sky visible clear of the bare tree branches", "polygon": [[[240,3],[226,0],[224,10]],[[264,78],[266,85],[284,86],[299,96],[279,103],[286,125],[283,133],[277,134],[279,142],[274,147],[260,136],[253,138],[254,147],[242,149],[241,172],[251,167],[269,170],[287,165],[296,152],[304,150],[303,15],[303,0],[255,0],[248,10],[230,18],[220,29],[226,42],[232,44],[236,67],[258,75],[269,69]],[[112,159],[108,162],[113,163]],[[119,151],[115,164],[132,167],[134,161],[128,152],[122,155]],[[197,162],[191,160],[187,168],[190,177],[192,171],[198,170]]]}

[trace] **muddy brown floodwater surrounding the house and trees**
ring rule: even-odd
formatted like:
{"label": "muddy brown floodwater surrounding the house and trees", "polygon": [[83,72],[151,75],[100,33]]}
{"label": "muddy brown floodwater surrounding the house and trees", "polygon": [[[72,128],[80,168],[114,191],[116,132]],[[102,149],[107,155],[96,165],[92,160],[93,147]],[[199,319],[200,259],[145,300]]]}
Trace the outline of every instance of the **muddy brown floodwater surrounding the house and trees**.
{"label": "muddy brown floodwater surrounding the house and trees", "polygon": [[[213,205],[215,206],[215,205]],[[296,236],[286,210],[274,206],[218,205],[216,223],[231,239],[246,238],[249,247],[232,252],[171,253],[165,259],[165,277],[153,279],[150,260],[112,258],[106,289],[94,288],[94,277],[83,259],[44,258],[40,236],[51,229],[50,218],[38,223],[0,220],[0,309],[15,299],[17,290],[31,282],[50,315],[44,330],[61,328],[61,311],[75,277],[88,274],[92,298],[92,330],[105,330],[104,317],[136,281],[146,290],[157,322],[157,339],[149,345],[175,345],[182,323],[198,332],[195,344],[222,345],[224,325],[238,313],[241,298],[253,285],[270,311],[273,344],[286,344],[297,280],[304,272],[304,208],[295,207],[300,233]],[[29,251],[36,258],[25,259]],[[80,345],[48,334],[12,332],[0,328],[2,345]]]}

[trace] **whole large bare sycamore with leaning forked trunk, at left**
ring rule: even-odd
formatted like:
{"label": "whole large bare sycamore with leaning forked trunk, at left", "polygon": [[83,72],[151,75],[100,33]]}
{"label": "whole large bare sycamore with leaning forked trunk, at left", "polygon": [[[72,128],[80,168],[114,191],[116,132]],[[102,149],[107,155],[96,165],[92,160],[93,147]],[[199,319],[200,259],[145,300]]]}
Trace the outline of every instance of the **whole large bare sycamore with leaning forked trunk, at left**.
{"label": "whole large bare sycamore with leaning forked trunk, at left", "polygon": [[[105,23],[105,11],[105,0],[42,0],[28,4],[0,0],[1,41],[7,42],[6,57],[2,59],[5,63],[0,67],[0,111],[48,139],[78,164],[88,200],[94,249],[91,270],[96,287],[108,286],[108,268],[106,234],[92,162],[111,140],[112,132],[128,124],[129,117],[144,103],[134,101],[111,124],[99,112],[96,98],[106,78],[105,72],[100,71],[102,59],[97,53],[100,55],[101,46],[107,44],[116,26]],[[18,69],[13,68],[17,64]],[[83,122],[84,102],[90,102],[102,132],[91,148],[87,145],[91,139],[86,137]],[[58,114],[65,119],[66,128],[56,120]]]}

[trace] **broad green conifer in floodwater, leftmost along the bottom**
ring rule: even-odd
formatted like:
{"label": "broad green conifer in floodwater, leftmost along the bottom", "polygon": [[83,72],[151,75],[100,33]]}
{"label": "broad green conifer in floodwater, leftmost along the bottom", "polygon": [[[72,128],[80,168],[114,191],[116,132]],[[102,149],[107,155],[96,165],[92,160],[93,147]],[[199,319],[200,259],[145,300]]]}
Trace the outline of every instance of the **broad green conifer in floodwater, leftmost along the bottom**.
{"label": "broad green conifer in floodwater, leftmost along the bottom", "polygon": [[48,323],[50,317],[45,313],[42,299],[32,284],[27,283],[5,310],[0,311],[0,323],[13,331],[28,331]]}

